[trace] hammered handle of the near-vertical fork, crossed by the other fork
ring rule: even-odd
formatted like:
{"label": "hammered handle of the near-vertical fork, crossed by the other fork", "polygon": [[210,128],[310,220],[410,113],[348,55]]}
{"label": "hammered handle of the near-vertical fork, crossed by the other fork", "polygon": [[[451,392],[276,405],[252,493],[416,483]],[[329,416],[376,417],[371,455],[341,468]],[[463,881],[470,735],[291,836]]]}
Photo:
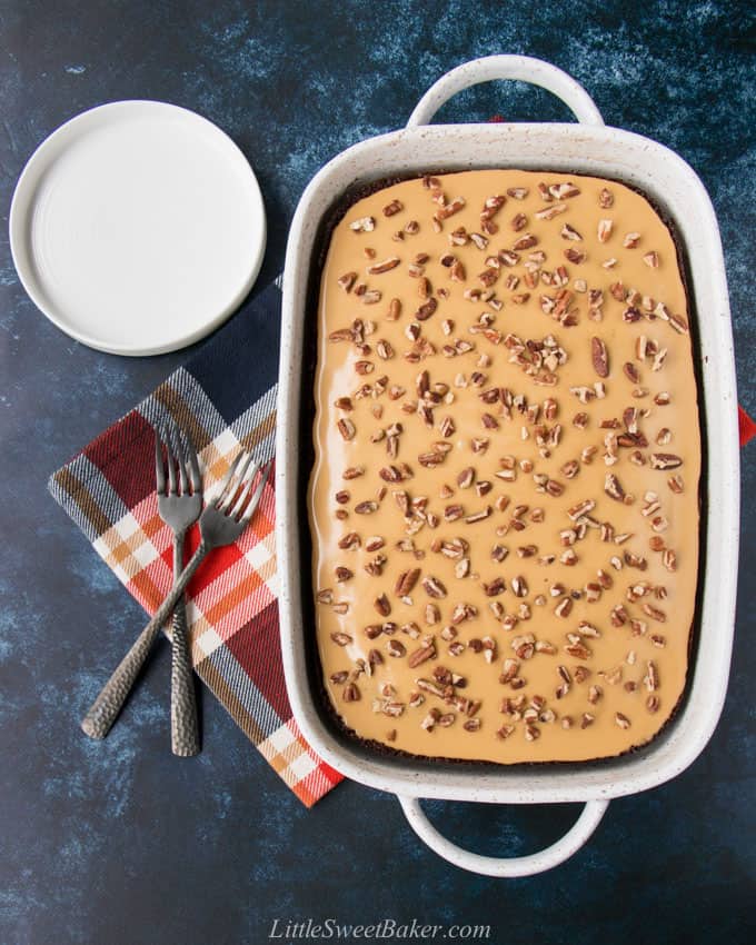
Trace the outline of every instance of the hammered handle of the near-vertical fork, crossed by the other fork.
{"label": "hammered handle of the near-vertical fork, crossed by the other fork", "polygon": [[[173,537],[173,574],[183,568],[183,534]],[[170,740],[175,755],[190,758],[199,755],[197,696],[189,650],[187,610],[180,597],[173,610],[170,673]]]}

